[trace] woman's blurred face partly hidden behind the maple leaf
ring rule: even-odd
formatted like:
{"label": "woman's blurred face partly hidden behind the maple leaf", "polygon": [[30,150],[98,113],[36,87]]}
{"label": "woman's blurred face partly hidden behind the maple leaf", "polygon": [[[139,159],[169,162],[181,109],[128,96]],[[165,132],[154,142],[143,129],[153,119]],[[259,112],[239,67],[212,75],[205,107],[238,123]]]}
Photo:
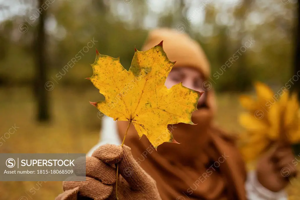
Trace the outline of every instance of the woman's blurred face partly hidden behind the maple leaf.
{"label": "woman's blurred face partly hidden behind the maple leaf", "polygon": [[[200,72],[194,68],[188,68],[188,67],[180,67],[180,68],[173,68],[165,82],[165,86],[167,88],[171,88],[173,85],[176,85],[178,83],[182,82],[182,85],[202,92],[203,89],[203,77],[200,74]],[[198,101],[198,108],[205,102],[205,92]]]}

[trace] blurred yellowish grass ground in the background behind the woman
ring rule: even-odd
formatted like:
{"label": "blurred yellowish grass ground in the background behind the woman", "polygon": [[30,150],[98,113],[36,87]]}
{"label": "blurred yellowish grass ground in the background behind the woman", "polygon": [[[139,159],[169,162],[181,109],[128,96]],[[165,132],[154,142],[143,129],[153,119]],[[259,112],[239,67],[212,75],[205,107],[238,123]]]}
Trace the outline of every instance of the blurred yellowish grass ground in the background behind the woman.
{"label": "blurred yellowish grass ground in the background behind the woman", "polygon": [[[86,153],[99,140],[101,120],[88,101],[97,101],[97,89],[63,88],[49,91],[53,120],[49,124],[35,122],[35,103],[29,88],[0,88],[0,137],[11,126],[19,127],[0,146],[0,153]],[[218,95],[217,123],[228,131],[238,132],[241,107],[238,95]],[[300,199],[300,181],[294,180],[288,193]],[[29,192],[34,188],[35,193]],[[2,200],[51,200],[62,192],[61,182],[0,182]]]}

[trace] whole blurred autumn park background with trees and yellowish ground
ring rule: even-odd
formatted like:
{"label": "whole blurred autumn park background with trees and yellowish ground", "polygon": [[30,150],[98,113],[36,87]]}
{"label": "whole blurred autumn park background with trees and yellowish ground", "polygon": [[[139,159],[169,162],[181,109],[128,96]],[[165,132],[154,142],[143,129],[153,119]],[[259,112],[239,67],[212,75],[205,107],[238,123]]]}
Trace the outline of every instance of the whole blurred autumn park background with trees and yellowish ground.
{"label": "whole blurred autumn park background with trees and yellowish ground", "polygon": [[[88,152],[105,117],[88,102],[103,97],[84,80],[95,48],[128,69],[134,47],[156,27],[202,45],[217,121],[238,132],[237,96],[256,80],[279,89],[300,68],[298,9],[296,0],[0,0],[0,153]],[[12,126],[19,128],[4,137]],[[4,200],[54,199],[61,191],[61,182],[0,182]],[[300,199],[297,189],[288,191]]]}

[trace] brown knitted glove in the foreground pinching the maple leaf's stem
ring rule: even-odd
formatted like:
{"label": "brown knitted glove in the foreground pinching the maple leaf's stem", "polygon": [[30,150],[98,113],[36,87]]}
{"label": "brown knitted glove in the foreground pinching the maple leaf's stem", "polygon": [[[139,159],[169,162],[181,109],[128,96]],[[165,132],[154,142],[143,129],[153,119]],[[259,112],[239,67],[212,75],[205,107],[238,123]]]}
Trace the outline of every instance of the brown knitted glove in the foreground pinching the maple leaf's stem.
{"label": "brown knitted glove in the foreground pinching the maple leaf's stem", "polygon": [[119,200],[161,200],[155,180],[137,164],[131,149],[113,144],[100,146],[86,157],[86,181],[64,181],[65,192],[56,200],[116,199],[116,163]]}

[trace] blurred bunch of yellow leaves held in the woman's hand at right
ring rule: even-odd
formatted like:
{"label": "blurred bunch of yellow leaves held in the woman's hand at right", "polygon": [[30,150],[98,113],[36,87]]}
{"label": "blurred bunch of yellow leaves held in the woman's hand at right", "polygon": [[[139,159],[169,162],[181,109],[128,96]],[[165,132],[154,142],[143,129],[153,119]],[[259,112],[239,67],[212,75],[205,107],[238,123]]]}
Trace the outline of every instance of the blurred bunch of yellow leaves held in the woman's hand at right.
{"label": "blurred bunch of yellow leaves held in the woman's hand at right", "polygon": [[257,98],[242,95],[247,110],[240,124],[247,129],[241,135],[241,153],[247,162],[256,160],[277,141],[297,146],[300,142],[299,102],[288,90],[274,92],[263,83],[255,84]]}

